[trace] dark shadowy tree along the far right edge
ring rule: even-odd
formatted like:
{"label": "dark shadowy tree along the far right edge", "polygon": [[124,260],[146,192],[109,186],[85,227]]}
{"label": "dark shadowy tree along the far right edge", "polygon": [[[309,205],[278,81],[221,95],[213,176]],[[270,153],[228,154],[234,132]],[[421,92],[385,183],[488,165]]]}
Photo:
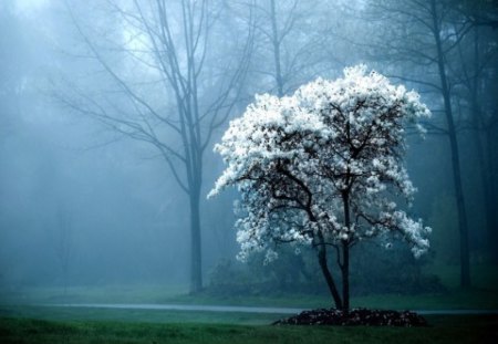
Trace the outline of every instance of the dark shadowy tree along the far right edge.
{"label": "dark shadowy tree along the far right edge", "polygon": [[[498,13],[498,11],[496,11]],[[488,93],[490,75],[498,63],[498,49],[496,48],[498,35],[494,29],[475,24],[461,44],[458,44],[452,74],[455,75],[457,86],[456,96],[458,107],[468,113],[468,127],[475,146],[478,177],[484,195],[484,212],[487,227],[487,249],[490,257],[498,261],[498,252],[495,249],[498,243],[496,181],[492,171],[492,137],[498,128],[498,117],[492,108],[487,106],[485,95]],[[491,88],[491,87],[489,87]]]}

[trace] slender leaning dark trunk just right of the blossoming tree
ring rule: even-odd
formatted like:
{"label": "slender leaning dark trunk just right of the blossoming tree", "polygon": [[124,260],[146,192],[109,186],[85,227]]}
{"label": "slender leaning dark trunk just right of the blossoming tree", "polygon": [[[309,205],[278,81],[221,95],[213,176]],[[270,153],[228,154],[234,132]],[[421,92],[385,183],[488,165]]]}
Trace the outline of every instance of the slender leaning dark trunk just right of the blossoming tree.
{"label": "slender leaning dark trunk just right of the blossoming tree", "polygon": [[444,98],[446,122],[448,125],[448,136],[449,136],[449,147],[452,150],[452,166],[453,166],[453,180],[455,187],[455,198],[458,212],[458,228],[459,228],[459,239],[460,239],[460,285],[463,288],[470,286],[470,259],[469,259],[469,244],[468,244],[468,226],[467,226],[467,213],[465,209],[465,197],[464,189],[461,185],[460,175],[460,158],[458,149],[458,139],[456,135],[455,123],[453,119],[453,110],[450,102],[450,91],[448,81],[446,79],[446,66],[445,56],[443,53],[443,46],[440,42],[440,28],[438,23],[438,13],[436,10],[436,1],[430,1],[432,12],[433,12],[433,25],[434,25],[434,38],[436,41],[437,50],[437,65],[442,85],[442,95]]}

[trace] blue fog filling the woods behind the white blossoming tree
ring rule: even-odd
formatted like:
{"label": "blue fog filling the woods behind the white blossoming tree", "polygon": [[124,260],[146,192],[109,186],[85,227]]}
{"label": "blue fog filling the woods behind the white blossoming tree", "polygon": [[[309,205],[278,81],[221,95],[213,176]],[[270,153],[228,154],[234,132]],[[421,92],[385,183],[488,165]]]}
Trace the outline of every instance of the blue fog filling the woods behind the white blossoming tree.
{"label": "blue fog filling the woods behind the white blossoming tree", "polygon": [[207,199],[225,167],[212,148],[255,94],[290,95],[359,63],[433,113],[424,138],[408,131],[406,156],[418,189],[407,211],[433,233],[421,259],[402,241],[355,247],[352,294],[443,291],[442,267],[464,286],[479,267],[496,272],[498,7],[438,2],[442,51],[414,7],[1,1],[0,299],[108,285],[326,294],[311,249],[236,259],[239,195]]}

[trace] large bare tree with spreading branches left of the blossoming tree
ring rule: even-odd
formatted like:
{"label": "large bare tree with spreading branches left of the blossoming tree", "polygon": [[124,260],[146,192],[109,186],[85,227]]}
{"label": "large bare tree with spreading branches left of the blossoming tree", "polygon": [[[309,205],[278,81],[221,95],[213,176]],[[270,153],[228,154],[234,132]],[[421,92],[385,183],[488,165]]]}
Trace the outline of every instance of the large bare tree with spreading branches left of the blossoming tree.
{"label": "large bare tree with spreading branches left of the blossoming tree", "polygon": [[[106,9],[122,24],[124,39],[103,45],[89,34],[68,2],[66,9],[90,58],[117,86],[120,96],[116,90],[92,96],[74,86],[72,94],[60,98],[72,110],[159,152],[188,197],[190,292],[197,292],[203,288],[203,158],[242,90],[252,51],[250,8],[243,21],[246,37],[234,41],[231,53],[224,55],[217,51],[217,41],[224,39],[217,24],[227,13],[216,0],[108,0]],[[128,65],[113,63],[113,54],[125,56]]]}

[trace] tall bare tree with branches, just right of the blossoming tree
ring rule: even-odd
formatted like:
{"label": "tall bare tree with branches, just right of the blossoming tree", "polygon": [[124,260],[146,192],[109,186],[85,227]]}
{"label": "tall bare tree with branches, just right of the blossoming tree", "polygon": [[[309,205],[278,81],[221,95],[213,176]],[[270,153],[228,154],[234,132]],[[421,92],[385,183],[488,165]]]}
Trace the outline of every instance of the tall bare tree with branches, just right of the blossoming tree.
{"label": "tall bare tree with branches, just right of the blossoming tree", "polygon": [[378,33],[373,43],[363,44],[374,59],[403,65],[403,74],[391,76],[423,85],[443,100],[444,123],[440,126],[433,124],[429,129],[447,135],[449,140],[460,239],[460,284],[469,286],[469,240],[458,144],[459,123],[454,114],[455,80],[448,61],[473,24],[461,20],[454,2],[436,0],[371,1],[369,19],[384,24],[383,29],[372,30]]}

